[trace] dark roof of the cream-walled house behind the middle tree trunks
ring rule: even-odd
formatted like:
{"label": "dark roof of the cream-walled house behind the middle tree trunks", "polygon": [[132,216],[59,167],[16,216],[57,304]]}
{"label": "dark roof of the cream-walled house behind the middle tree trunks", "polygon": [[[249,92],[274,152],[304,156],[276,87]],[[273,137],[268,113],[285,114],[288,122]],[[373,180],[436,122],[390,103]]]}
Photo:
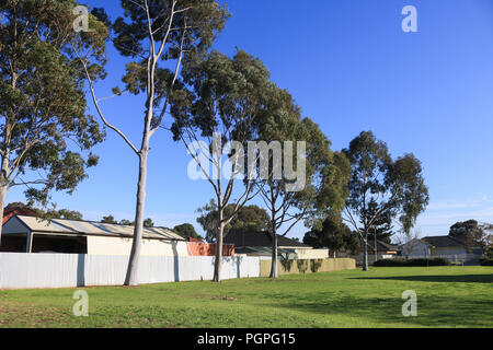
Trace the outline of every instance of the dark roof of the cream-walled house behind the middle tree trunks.
{"label": "dark roof of the cream-walled house behind the middle tree trunks", "polygon": [[[234,244],[238,247],[271,247],[272,236],[268,232],[231,232],[223,243]],[[301,242],[277,235],[277,246],[293,248],[311,248]]]}

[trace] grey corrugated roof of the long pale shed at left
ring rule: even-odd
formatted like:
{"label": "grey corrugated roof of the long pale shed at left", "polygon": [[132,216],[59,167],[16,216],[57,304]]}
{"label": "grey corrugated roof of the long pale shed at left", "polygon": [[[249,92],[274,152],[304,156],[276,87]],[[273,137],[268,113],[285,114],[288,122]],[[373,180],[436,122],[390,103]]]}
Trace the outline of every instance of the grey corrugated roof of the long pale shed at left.
{"label": "grey corrugated roof of the long pale shed at left", "polygon": [[[36,217],[15,215],[28,230],[33,232],[87,234],[116,237],[133,237],[134,226],[102,223],[94,221],[51,219],[43,220]],[[10,221],[9,220],[9,221]],[[182,236],[165,228],[145,228],[144,238],[185,241]]]}

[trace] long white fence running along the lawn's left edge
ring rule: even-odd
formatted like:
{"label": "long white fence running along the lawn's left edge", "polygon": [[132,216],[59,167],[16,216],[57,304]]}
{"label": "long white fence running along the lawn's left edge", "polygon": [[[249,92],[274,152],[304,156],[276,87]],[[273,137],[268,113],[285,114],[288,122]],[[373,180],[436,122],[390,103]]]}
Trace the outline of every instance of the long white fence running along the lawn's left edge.
{"label": "long white fence running along the lawn's left edge", "polygon": [[[211,280],[215,257],[140,257],[139,283]],[[0,253],[0,289],[122,285],[128,257]],[[257,257],[225,257],[221,279],[260,277]]]}

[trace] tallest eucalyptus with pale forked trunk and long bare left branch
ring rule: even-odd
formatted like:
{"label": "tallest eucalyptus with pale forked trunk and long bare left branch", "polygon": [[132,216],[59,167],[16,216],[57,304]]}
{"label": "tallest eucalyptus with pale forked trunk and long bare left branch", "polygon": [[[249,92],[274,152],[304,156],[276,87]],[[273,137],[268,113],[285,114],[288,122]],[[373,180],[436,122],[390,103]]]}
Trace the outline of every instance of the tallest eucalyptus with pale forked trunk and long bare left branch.
{"label": "tallest eucalyptus with pale forked trunk and long bare left branch", "polygon": [[[228,12],[215,0],[122,0],[121,3],[124,16],[113,23],[112,40],[121,55],[131,61],[126,65],[123,77],[125,88],[115,88],[113,93],[114,96],[126,92],[144,96],[144,113],[135,118],[136,127],[140,125],[142,128],[139,145],[111,122],[103,112],[102,100],[96,97],[89,68],[92,47],[73,49],[85,68],[92,100],[101,120],[123,139],[138,159],[134,241],[125,278],[126,285],[136,285],[145,226],[150,139],[164,125],[183,59],[191,54],[202,55],[210,47],[223,28]],[[94,13],[105,18],[101,10]]]}

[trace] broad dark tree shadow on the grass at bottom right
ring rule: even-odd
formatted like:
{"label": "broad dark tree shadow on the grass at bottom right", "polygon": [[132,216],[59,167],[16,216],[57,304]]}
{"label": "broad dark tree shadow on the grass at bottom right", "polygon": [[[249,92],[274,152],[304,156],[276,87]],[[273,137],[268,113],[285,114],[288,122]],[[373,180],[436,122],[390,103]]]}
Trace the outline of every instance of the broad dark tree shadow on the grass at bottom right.
{"label": "broad dark tree shadow on the grass at bottom right", "polygon": [[[323,300],[326,294],[318,299]],[[358,318],[358,325],[368,327],[491,327],[493,310],[490,301],[459,298],[417,296],[417,316],[404,317],[400,298],[346,296],[326,302],[285,301],[275,307],[286,307],[313,315]],[[349,325],[351,327],[351,325]]]}

